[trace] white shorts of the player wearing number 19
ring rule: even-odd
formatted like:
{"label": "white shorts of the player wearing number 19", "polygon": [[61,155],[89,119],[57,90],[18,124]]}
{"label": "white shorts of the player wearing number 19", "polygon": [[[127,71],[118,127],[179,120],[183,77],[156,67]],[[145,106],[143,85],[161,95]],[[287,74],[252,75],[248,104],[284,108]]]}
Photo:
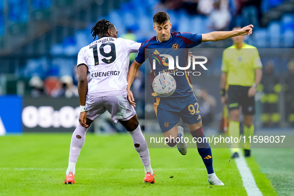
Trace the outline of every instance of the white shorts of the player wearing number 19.
{"label": "white shorts of the player wearing number 19", "polygon": [[127,100],[127,96],[107,96],[86,99],[87,118],[95,120],[106,110],[111,114],[111,119],[116,123],[118,120],[129,120],[135,114],[135,108]]}

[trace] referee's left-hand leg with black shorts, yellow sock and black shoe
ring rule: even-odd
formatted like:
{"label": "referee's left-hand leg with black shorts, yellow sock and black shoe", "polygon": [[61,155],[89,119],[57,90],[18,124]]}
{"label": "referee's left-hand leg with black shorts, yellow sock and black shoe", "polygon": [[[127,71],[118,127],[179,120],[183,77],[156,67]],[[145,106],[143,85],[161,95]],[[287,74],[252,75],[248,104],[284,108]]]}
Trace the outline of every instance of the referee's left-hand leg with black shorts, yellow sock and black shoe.
{"label": "referee's left-hand leg with black shorts, yellow sock and black shoe", "polygon": [[[240,96],[242,96],[240,92],[241,86],[233,86],[230,85],[228,88],[228,109],[230,112],[230,122],[228,127],[228,134],[233,138],[237,137],[240,138],[240,122],[239,122],[239,115],[240,115]],[[231,158],[239,157],[239,144],[232,143],[231,145],[233,154]]]}

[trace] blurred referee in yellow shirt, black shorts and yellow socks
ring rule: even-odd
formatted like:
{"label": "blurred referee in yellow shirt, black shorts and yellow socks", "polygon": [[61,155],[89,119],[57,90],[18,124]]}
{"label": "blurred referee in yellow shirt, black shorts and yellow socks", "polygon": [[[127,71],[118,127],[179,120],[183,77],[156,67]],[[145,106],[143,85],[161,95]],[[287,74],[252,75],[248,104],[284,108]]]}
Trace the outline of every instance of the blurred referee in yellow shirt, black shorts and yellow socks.
{"label": "blurred referee in yellow shirt, black shorts and yellow socks", "polygon": [[[234,27],[233,30],[241,27]],[[240,138],[240,106],[244,115],[244,135],[246,138],[254,133],[253,115],[255,113],[256,87],[262,78],[262,64],[256,47],[246,44],[245,36],[232,37],[234,45],[223,51],[221,65],[220,95],[222,104],[227,104],[230,112],[228,133]],[[228,97],[225,86],[228,83]],[[239,144],[233,143],[231,158],[239,157]],[[244,144],[245,157],[250,157],[250,143]]]}

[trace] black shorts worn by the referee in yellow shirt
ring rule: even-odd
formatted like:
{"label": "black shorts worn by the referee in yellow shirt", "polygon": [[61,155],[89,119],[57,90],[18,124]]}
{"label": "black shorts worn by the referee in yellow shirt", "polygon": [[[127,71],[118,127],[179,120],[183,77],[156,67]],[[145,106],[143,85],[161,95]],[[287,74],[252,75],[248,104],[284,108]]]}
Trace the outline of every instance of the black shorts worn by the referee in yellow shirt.
{"label": "black shorts worn by the referee in yellow shirt", "polygon": [[229,85],[228,89],[228,109],[229,111],[239,109],[242,106],[244,115],[254,115],[255,100],[254,97],[248,97],[250,87],[238,85]]}

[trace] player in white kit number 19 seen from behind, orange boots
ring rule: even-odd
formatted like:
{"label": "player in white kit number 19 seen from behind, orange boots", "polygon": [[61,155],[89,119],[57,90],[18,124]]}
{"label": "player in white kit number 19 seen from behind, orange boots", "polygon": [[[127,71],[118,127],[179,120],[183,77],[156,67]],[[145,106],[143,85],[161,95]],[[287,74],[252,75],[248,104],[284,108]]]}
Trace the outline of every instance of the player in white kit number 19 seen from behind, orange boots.
{"label": "player in white kit number 19 seen from behind, orange boots", "polygon": [[[154,183],[147,142],[142,134],[134,107],[127,100],[129,54],[138,52],[140,43],[117,38],[115,26],[99,20],[92,28],[94,40],[78,54],[78,91],[81,113],[70,146],[69,166],[65,184],[75,183],[75,167],[86,132],[100,114],[108,110],[114,122],[120,122],[130,133],[133,145],[145,168],[144,181]],[[88,72],[90,73],[89,79]]]}

